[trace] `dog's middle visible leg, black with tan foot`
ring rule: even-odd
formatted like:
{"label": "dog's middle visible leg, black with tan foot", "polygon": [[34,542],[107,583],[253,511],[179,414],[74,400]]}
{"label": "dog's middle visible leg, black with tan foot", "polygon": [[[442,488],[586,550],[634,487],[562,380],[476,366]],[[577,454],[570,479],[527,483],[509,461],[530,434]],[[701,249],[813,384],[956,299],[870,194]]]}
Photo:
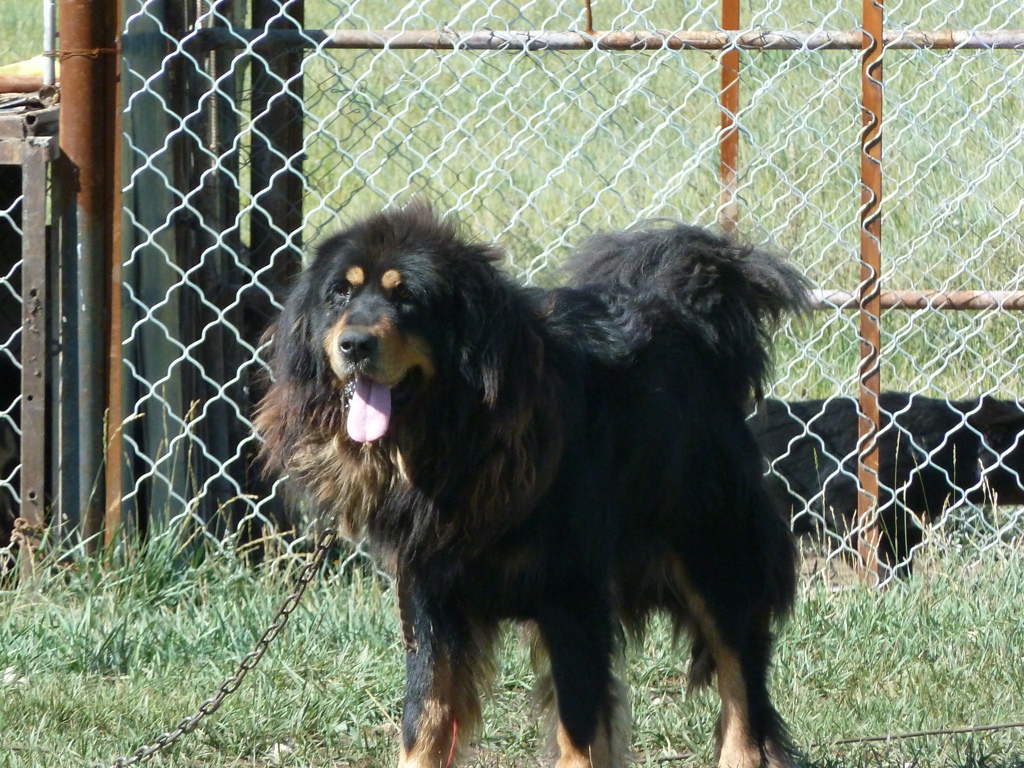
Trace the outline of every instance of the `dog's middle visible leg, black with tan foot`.
{"label": "dog's middle visible leg, black with tan foot", "polygon": [[622,768],[629,701],[614,674],[621,647],[610,612],[603,605],[548,606],[537,624],[539,650],[550,665],[539,687],[542,703],[556,714],[557,768]]}

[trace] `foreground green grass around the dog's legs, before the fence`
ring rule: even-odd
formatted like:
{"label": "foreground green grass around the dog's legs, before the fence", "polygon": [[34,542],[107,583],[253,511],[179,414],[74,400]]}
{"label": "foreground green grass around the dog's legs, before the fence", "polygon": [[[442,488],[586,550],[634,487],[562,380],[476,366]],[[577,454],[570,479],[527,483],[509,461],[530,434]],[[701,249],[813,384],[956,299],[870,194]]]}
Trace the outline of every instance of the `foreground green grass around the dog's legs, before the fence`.
{"label": "foreground green grass around the dog's legs, before the fence", "polygon": [[[1019,730],[833,743],[1024,719],[1016,609],[1024,552],[927,570],[882,592],[804,582],[772,688],[808,765],[1024,764]],[[289,577],[223,556],[187,566],[157,553],[105,570],[63,568],[34,590],[0,593],[0,765],[109,764],[170,729],[233,671]],[[684,694],[687,658],[660,624],[630,652],[637,765],[690,754],[687,765],[711,761],[716,701]],[[220,712],[157,764],[390,765],[402,674],[386,584],[362,567],[335,573],[314,583]],[[537,765],[530,686],[527,654],[510,631],[473,765]],[[275,763],[283,750],[288,759]]]}

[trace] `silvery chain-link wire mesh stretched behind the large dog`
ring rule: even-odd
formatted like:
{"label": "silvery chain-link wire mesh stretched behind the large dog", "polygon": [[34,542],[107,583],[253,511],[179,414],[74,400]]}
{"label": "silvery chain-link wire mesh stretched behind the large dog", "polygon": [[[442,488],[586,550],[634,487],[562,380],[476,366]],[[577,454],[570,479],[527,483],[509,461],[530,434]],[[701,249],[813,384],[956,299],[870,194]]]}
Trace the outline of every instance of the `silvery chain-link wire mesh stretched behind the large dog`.
{"label": "silvery chain-link wire mesh stretched behind the large dog", "polygon": [[[423,195],[543,285],[595,230],[719,216],[720,52],[336,49],[330,33],[560,32],[585,29],[586,14],[557,0],[300,5],[127,4],[123,505],[151,532],[184,520],[234,546],[303,529],[281,485],[253,469],[251,414],[262,332],[304,246],[339,221]],[[707,0],[596,2],[593,13],[605,30],[720,29]],[[757,0],[742,28],[844,32],[859,13],[850,0]],[[1009,32],[1024,8],[887,3],[887,28]],[[884,288],[1024,290],[1022,61],[994,48],[885,50]],[[859,52],[743,50],[740,93],[739,229],[790,252],[818,288],[856,292]],[[910,416],[884,419],[898,439],[883,438],[881,512],[905,545],[893,566],[918,547],[973,560],[1019,544],[1021,336],[1021,315],[1001,307],[884,315],[884,389],[922,396],[889,403]],[[777,337],[770,395],[793,431],[769,458],[795,525],[828,543],[827,563],[856,551],[841,499],[855,449],[822,431],[855,435],[843,398],[856,395],[857,355],[856,314],[838,303]],[[1005,401],[994,423],[983,396]],[[807,404],[819,398],[838,421]]]}

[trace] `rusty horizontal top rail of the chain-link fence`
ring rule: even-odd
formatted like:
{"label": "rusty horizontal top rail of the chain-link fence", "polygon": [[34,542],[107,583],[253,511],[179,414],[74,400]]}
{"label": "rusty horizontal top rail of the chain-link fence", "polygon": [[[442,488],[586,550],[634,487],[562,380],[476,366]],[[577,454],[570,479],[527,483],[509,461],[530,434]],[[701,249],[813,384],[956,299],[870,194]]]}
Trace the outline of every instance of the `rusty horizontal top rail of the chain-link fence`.
{"label": "rusty horizontal top rail of the chain-link fence", "polygon": [[[895,50],[953,48],[1024,50],[1024,30],[889,30],[885,47]],[[797,30],[729,31],[514,31],[514,30],[198,30],[189,45],[201,49],[244,48],[250,45],[298,48],[380,50],[859,50],[861,30],[836,32]]]}

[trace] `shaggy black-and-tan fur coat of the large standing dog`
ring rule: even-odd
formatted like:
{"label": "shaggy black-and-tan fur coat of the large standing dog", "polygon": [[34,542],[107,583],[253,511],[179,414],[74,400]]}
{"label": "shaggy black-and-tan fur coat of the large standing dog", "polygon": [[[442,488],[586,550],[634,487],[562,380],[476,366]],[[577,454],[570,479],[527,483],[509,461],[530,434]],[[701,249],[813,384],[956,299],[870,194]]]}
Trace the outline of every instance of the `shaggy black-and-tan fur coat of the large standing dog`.
{"label": "shaggy black-and-tan fur coat of the large standing dog", "polygon": [[[499,623],[517,620],[550,662],[559,765],[621,765],[621,628],[653,610],[691,635],[695,683],[718,673],[721,764],[785,764],[767,675],[796,553],[745,416],[804,280],[668,223],[594,238],[570,287],[516,285],[501,258],[425,205],[386,211],[319,246],[273,330],[265,458],[398,584],[401,764],[443,765],[453,723],[464,743]],[[373,360],[332,348],[355,327],[428,350],[401,352],[417,362],[364,443],[346,388]]]}

